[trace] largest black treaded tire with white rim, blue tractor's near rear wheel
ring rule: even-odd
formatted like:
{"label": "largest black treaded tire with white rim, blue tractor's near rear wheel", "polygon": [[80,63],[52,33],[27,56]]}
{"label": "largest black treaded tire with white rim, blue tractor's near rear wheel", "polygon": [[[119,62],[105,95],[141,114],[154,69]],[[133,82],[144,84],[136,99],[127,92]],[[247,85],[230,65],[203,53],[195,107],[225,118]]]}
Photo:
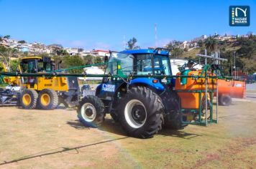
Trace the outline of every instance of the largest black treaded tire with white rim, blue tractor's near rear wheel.
{"label": "largest black treaded tire with white rim, blue tractor's near rear wheel", "polygon": [[119,122],[132,137],[153,137],[163,122],[163,103],[146,87],[132,87],[120,100]]}

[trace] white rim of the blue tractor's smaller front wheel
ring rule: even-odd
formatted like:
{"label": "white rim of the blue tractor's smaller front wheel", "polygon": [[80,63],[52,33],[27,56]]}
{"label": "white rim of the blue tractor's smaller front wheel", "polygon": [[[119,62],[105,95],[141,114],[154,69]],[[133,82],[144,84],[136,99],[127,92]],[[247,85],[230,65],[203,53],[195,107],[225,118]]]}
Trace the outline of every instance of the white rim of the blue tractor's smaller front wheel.
{"label": "white rim of the blue tractor's smaller front wheel", "polygon": [[81,115],[86,122],[92,122],[96,118],[96,109],[91,103],[86,102],[81,108]]}

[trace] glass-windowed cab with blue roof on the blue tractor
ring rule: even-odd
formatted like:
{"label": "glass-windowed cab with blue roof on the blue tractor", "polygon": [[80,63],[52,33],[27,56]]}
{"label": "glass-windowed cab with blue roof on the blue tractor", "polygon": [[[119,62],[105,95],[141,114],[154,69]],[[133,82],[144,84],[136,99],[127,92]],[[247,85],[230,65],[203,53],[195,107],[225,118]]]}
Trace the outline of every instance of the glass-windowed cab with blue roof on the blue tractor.
{"label": "glass-windowed cab with blue roof on the blue tractor", "polygon": [[[117,74],[122,77],[129,75],[145,76],[172,75],[169,52],[158,49],[126,50],[120,53],[111,52],[106,74]],[[168,81],[170,83],[170,78]]]}

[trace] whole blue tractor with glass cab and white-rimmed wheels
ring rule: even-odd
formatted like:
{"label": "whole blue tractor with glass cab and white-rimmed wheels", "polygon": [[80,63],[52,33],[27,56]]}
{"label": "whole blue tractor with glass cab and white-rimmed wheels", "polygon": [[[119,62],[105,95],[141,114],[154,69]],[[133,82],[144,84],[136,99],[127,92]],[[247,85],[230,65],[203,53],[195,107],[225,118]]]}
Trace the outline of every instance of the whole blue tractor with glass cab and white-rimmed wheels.
{"label": "whole blue tractor with glass cab and white-rimmed wheels", "polygon": [[[175,79],[165,49],[111,52],[95,96],[84,97],[78,118],[97,127],[106,113],[132,137],[152,137],[163,126],[181,129],[180,98],[173,90]],[[184,119],[186,120],[186,119]]]}

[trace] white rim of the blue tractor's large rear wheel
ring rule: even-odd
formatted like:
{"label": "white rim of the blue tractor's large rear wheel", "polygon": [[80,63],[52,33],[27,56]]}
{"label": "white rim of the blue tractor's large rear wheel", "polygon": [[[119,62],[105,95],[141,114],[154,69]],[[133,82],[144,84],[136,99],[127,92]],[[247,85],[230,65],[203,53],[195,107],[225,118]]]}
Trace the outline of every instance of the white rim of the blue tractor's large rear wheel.
{"label": "white rim of the blue tractor's large rear wheel", "polygon": [[142,127],[147,120],[145,105],[140,100],[130,100],[125,105],[124,117],[129,126],[133,128]]}

